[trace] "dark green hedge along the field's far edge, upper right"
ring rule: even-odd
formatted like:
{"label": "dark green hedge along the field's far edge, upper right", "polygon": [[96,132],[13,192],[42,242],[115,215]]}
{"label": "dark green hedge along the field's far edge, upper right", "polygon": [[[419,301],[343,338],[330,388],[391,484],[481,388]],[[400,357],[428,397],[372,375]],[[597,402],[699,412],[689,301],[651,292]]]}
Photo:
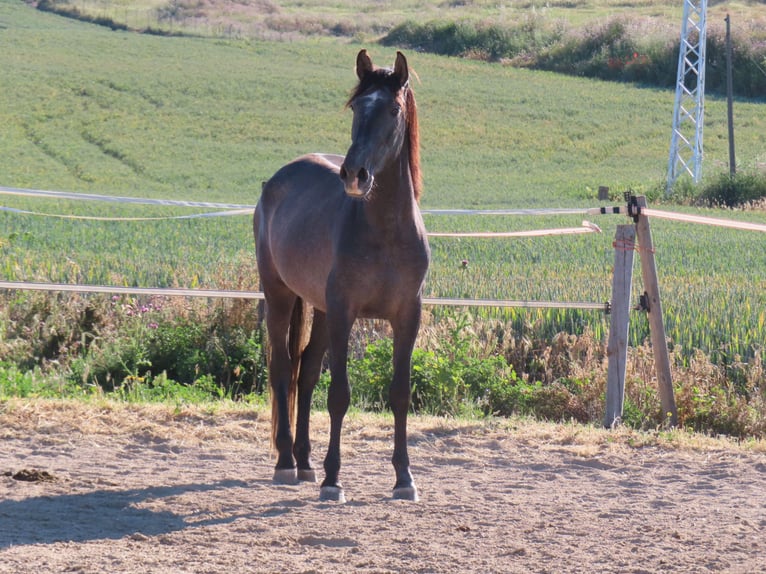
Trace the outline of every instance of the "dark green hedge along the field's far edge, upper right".
{"label": "dark green hedge along the field's far edge, upper right", "polygon": [[[469,56],[539,70],[602,80],[636,82],[661,88],[675,85],[677,30],[652,29],[650,20],[616,16],[581,28],[565,29],[540,17],[521,24],[465,21],[406,21],[383,38],[399,45],[446,56]],[[741,35],[733,40],[733,86],[738,96],[766,96],[766,44]],[[726,93],[725,39],[713,29],[707,40],[705,89]]]}

